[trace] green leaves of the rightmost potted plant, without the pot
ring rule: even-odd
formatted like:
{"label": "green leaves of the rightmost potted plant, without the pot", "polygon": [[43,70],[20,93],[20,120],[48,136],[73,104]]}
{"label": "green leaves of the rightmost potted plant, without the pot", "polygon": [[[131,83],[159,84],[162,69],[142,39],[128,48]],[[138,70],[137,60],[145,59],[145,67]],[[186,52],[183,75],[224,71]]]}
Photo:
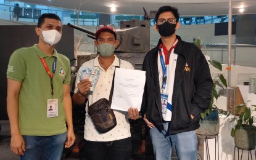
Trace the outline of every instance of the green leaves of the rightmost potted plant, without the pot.
{"label": "green leaves of the rightmost potted plant, without the pot", "polygon": [[[236,126],[231,130],[231,136],[234,137],[236,134],[236,130],[240,129],[241,127],[251,127],[254,126],[253,123],[255,122],[256,115],[253,115],[252,113],[256,111],[256,105],[250,105],[248,106],[247,103],[241,103],[240,105],[235,106],[237,108],[237,113],[240,113],[239,117],[235,116],[230,122],[236,121]],[[243,111],[242,111],[243,109]]]}

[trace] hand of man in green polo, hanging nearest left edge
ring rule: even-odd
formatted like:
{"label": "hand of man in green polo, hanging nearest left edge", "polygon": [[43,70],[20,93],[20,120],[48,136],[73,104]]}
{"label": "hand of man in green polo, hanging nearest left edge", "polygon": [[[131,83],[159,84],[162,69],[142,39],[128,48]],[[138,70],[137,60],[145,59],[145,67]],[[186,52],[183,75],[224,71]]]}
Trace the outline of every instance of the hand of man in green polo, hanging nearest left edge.
{"label": "hand of man in green polo, hanging nearest left edge", "polygon": [[18,156],[24,156],[25,142],[22,135],[12,135],[10,138],[10,150]]}

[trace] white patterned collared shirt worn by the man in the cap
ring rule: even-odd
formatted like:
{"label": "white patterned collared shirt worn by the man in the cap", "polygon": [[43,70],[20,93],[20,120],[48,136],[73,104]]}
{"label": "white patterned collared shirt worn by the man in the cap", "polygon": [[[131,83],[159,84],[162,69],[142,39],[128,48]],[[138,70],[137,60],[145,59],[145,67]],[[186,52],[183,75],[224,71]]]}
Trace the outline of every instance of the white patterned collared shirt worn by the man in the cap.
{"label": "white patterned collared shirt worn by the man in the cap", "polygon": [[[93,94],[88,96],[89,105],[93,104],[97,100],[101,98],[106,98],[109,100],[109,94],[112,86],[112,79],[114,75],[115,66],[119,66],[119,59],[115,56],[115,60],[112,65],[105,71],[101,65],[99,65],[98,57],[93,60],[89,60],[88,62],[83,63],[80,68],[83,66],[94,66],[95,68],[99,68],[101,70],[101,74],[99,75],[99,79],[97,81],[96,87],[93,91]],[[134,69],[133,65],[130,62],[126,62],[125,60],[120,60],[120,68]],[[80,70],[78,71],[80,73]],[[76,79],[78,77],[76,76]],[[76,81],[75,84],[75,93],[78,92],[77,84],[79,81]],[[105,134],[99,134],[97,130],[94,128],[93,122],[91,121],[90,116],[88,115],[88,103],[86,102],[86,118],[85,118],[85,133],[84,138],[89,141],[99,141],[99,142],[108,142],[113,140],[120,140],[123,138],[131,137],[130,132],[130,124],[128,121],[128,112],[127,111],[118,111],[114,110],[115,117],[117,119],[117,126],[114,129],[110,130]]]}

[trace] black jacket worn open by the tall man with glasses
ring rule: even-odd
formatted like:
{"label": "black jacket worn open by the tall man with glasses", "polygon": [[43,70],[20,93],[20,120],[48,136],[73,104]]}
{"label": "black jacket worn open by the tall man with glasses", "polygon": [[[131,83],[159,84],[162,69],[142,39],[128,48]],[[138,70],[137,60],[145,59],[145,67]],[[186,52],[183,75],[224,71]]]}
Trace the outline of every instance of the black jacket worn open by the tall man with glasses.
{"label": "black jacket worn open by the tall man with glasses", "polygon": [[[172,116],[168,134],[178,134],[199,128],[200,113],[210,106],[212,78],[209,65],[201,50],[194,44],[184,42],[180,36],[175,47],[178,54],[172,97]],[[144,58],[142,70],[146,71],[146,84],[141,113],[155,127],[163,129],[157,56],[159,45]],[[186,66],[186,63],[188,66]],[[191,114],[194,119],[191,119]]]}

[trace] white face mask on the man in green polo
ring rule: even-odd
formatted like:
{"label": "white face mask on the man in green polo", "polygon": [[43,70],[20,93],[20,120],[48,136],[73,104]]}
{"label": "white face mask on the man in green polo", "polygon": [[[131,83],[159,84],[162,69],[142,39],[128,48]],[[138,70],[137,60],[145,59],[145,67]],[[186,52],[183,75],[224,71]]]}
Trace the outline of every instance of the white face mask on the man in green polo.
{"label": "white face mask on the man in green polo", "polygon": [[[39,28],[40,29],[40,28]],[[40,29],[41,30],[41,29]],[[41,30],[42,31],[42,30]],[[49,45],[57,44],[57,42],[60,41],[60,38],[62,34],[60,34],[57,30],[48,30],[48,31],[42,31],[44,42],[46,42]]]}

